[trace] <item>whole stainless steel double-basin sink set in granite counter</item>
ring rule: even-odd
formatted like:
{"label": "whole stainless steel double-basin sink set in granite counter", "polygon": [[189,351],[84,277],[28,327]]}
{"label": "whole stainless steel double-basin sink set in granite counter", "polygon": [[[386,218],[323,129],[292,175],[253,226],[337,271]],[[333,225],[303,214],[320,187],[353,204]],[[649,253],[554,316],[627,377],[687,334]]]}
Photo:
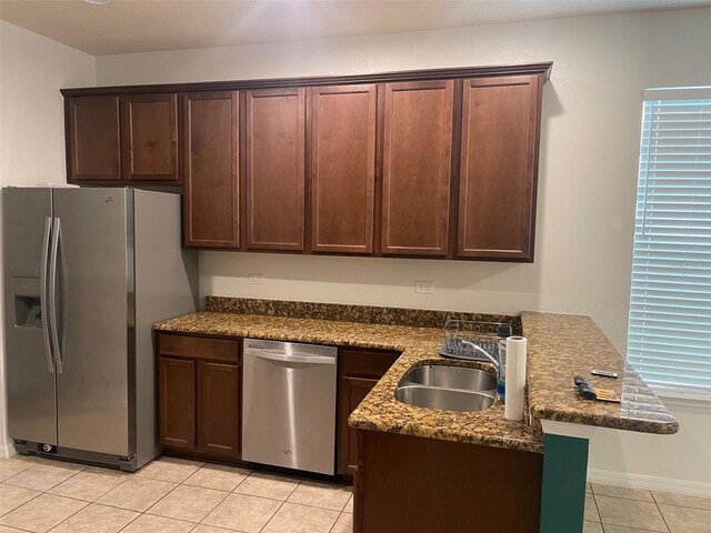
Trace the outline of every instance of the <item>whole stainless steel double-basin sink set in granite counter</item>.
{"label": "whole stainless steel double-basin sink set in granite counter", "polygon": [[395,400],[400,402],[459,412],[489,409],[495,396],[495,374],[448,364],[415,366],[395,389]]}

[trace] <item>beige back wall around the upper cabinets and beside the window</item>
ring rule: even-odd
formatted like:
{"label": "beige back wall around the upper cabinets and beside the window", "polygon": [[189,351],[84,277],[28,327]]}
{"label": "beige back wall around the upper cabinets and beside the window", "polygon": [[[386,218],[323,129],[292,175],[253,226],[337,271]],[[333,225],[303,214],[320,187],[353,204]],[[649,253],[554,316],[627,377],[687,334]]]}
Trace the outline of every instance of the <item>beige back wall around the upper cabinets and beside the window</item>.
{"label": "beige back wall around the upper cabinets and beside the window", "polygon": [[[591,315],[621,350],[630,290],[641,93],[710,84],[711,10],[560,19],[392,36],[100,57],[99,84],[553,60],[544,88],[534,264],[203,252],[202,295]],[[250,285],[250,272],[264,285]],[[434,295],[415,295],[434,280]],[[599,430],[591,467],[707,483],[711,419],[671,405],[675,436]],[[708,411],[708,410],[707,410]],[[663,461],[660,457],[664,457]],[[632,479],[632,477],[630,477]],[[649,477],[645,477],[649,479]],[[684,484],[685,483],[685,484]]]}

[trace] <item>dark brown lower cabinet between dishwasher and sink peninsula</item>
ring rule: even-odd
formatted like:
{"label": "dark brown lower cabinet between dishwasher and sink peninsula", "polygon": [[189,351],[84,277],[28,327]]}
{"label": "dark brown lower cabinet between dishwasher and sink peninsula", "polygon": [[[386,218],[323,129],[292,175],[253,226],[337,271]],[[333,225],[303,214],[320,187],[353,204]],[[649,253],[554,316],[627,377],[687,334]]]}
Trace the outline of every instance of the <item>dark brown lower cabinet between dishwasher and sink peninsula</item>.
{"label": "dark brown lower cabinet between dishwasher and sink peninsula", "polygon": [[399,356],[398,352],[340,350],[337,473],[353,475],[358,465],[358,433],[348,425],[348,418]]}

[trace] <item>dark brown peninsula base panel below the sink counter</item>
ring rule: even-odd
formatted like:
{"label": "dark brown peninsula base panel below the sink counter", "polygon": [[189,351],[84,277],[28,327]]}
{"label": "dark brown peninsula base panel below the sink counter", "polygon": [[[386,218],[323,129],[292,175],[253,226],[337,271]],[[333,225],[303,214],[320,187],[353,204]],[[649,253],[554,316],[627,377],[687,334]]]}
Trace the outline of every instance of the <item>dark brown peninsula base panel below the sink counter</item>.
{"label": "dark brown peninsula base panel below the sink counter", "polygon": [[354,533],[537,533],[540,453],[358,431]]}

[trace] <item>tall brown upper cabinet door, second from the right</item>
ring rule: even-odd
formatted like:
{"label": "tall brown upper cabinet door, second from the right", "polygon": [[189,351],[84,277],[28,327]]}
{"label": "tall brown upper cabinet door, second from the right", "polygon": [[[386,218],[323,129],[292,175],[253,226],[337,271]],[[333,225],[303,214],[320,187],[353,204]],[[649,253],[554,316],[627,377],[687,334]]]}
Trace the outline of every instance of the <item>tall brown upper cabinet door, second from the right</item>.
{"label": "tall brown upper cabinet door, second from the right", "polygon": [[449,251],[453,81],[385,84],[382,253]]}

